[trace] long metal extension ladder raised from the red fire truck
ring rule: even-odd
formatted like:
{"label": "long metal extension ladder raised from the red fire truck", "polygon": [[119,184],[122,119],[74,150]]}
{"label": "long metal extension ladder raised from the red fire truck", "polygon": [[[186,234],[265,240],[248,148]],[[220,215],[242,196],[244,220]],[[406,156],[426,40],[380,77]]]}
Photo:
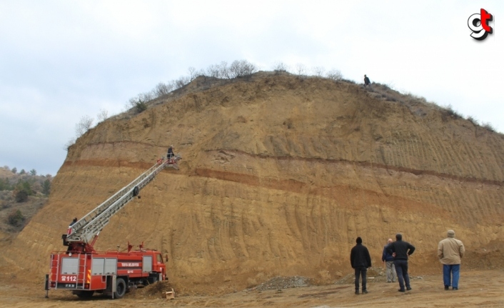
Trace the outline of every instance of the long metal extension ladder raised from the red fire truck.
{"label": "long metal extension ladder raised from the red fire truck", "polygon": [[130,202],[133,197],[136,197],[143,187],[146,187],[161,170],[168,166],[168,163],[170,163],[169,160],[161,160],[156,163],[146,172],[143,172],[140,177],[137,177],[133,182],[119,190],[119,192],[116,192],[114,196],[82,217],[70,227],[71,233],[66,237],[66,240],[68,242],[89,243],[96,234],[99,234],[104,229],[106,224],[109,223],[110,218],[124,207],[125,204]]}

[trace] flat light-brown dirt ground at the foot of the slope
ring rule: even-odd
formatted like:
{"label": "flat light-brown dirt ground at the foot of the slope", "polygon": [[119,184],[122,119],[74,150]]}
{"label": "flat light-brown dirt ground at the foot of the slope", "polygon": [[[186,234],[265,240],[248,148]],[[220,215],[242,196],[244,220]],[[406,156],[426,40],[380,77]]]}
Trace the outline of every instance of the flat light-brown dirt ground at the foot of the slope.
{"label": "flat light-brown dirt ground at the foot of the slope", "polygon": [[94,296],[81,300],[67,291],[45,291],[39,284],[7,284],[0,287],[0,307],[504,307],[503,271],[462,269],[458,291],[443,289],[443,275],[412,275],[412,290],[398,292],[398,283],[369,279],[368,294],[353,294],[353,284],[331,284],[291,289],[243,290],[218,296],[181,296],[167,300],[147,287],[123,299]]}

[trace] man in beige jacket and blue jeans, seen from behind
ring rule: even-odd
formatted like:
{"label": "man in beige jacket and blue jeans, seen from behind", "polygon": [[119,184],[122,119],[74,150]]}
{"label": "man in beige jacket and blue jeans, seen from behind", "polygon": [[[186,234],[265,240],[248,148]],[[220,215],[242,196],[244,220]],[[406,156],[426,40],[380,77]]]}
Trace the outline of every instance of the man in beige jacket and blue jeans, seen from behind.
{"label": "man in beige jacket and blue jeans, seen from behind", "polygon": [[[448,237],[438,244],[438,258],[443,264],[443,282],[445,290],[458,290],[460,278],[460,259],[464,256],[465,248],[462,241],[455,239],[455,232],[448,230]],[[450,283],[451,282],[451,283]]]}

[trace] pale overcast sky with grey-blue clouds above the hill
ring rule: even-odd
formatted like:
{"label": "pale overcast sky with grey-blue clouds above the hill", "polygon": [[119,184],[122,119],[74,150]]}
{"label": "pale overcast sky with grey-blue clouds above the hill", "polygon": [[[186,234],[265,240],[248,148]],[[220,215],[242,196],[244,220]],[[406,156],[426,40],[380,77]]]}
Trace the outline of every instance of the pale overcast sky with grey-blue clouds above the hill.
{"label": "pale overcast sky with grey-blue clouds above the hill", "polygon": [[[476,41],[482,8],[493,34]],[[502,133],[500,16],[504,1],[0,0],[0,166],[55,175],[82,116],[240,59],[367,74]]]}

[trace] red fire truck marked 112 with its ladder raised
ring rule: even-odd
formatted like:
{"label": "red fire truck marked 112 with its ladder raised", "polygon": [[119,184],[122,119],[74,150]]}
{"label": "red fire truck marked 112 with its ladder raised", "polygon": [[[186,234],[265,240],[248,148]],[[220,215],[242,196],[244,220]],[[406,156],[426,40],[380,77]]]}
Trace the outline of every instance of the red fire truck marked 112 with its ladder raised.
{"label": "red fire truck marked 112 with its ladder raised", "polygon": [[158,162],[100,204],[86,216],[69,227],[62,235],[66,252],[52,252],[49,274],[46,274],[46,297],[50,289],[71,290],[78,297],[91,297],[95,292],[114,298],[124,297],[126,292],[139,286],[167,280],[166,265],[161,252],[143,248],[132,250],[128,243],[127,252],[96,252],[93,248],[99,232],[110,218],[151,182],[166,167],[178,169],[181,157],[159,159]]}

